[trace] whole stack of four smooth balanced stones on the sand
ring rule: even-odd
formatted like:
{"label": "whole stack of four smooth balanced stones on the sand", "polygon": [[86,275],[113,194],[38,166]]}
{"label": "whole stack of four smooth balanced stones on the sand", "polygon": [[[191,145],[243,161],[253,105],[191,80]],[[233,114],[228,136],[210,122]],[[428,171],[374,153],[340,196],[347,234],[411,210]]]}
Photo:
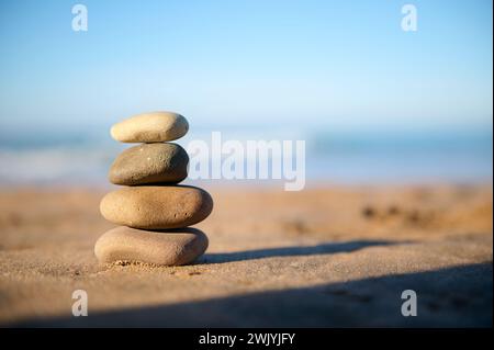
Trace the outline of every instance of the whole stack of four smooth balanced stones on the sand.
{"label": "whole stack of four smooth balanced stones on the sand", "polygon": [[101,263],[180,266],[206,250],[207,237],[188,226],[210,215],[213,200],[204,190],[178,185],[189,157],[169,143],[188,129],[187,120],[170,112],[139,114],[112,126],[114,139],[142,144],[124,150],[110,169],[110,181],[126,187],[100,204],[104,218],[121,225],[98,239],[94,253]]}

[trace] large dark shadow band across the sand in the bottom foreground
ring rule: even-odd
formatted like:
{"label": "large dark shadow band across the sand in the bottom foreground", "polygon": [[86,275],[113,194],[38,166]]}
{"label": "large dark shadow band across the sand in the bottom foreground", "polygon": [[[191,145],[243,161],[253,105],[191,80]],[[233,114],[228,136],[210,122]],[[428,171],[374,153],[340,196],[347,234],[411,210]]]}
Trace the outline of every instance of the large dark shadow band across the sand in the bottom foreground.
{"label": "large dark shadow band across the sand in the bottom foreground", "polygon": [[[26,320],[13,326],[492,327],[492,281],[491,261],[201,302],[93,312],[88,317]],[[401,314],[404,290],[417,293],[416,317]]]}

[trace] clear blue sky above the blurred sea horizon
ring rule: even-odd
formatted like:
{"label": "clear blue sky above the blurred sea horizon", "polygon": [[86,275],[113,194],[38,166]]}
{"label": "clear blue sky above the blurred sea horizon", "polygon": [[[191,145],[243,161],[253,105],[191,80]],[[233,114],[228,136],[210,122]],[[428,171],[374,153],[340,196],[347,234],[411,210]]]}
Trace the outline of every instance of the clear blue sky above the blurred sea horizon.
{"label": "clear blue sky above the blurred sea horizon", "polygon": [[492,127],[492,1],[0,2],[0,127]]}

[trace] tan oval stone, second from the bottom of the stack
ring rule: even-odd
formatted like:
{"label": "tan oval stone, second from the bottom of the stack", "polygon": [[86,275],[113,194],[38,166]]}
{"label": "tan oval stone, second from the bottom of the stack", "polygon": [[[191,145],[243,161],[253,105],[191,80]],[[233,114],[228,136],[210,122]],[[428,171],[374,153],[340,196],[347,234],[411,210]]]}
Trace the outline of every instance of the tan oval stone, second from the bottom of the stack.
{"label": "tan oval stone, second from the bottom of the stack", "polygon": [[201,189],[183,185],[143,185],[108,193],[100,203],[105,219],[144,229],[186,227],[202,222],[213,199]]}

